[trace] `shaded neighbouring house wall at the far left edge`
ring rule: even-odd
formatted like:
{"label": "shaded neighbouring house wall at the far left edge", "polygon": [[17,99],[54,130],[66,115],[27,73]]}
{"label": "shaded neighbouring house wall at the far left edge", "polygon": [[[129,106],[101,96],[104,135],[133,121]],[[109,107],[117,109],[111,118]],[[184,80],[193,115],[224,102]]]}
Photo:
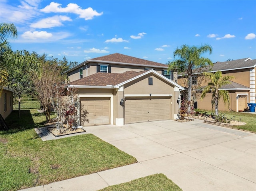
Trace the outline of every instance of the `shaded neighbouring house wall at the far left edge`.
{"label": "shaded neighbouring house wall at the far left edge", "polygon": [[0,114],[4,119],[12,112],[12,96],[13,91],[4,87],[0,98]]}

